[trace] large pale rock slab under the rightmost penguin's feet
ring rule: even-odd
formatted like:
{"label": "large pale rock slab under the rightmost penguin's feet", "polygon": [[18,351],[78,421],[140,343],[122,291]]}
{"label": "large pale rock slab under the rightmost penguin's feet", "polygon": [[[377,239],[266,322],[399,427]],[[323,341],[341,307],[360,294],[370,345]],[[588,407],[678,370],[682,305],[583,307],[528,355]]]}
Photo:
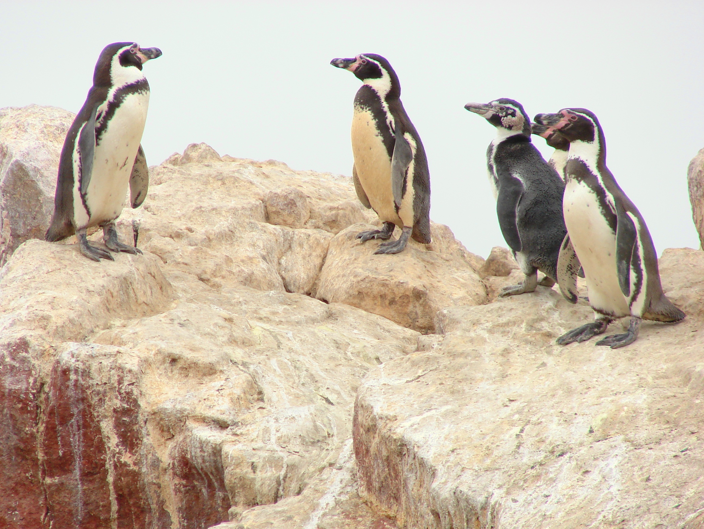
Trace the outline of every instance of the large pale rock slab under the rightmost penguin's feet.
{"label": "large pale rock slab under the rightmost penguin's feet", "polygon": [[555,344],[593,316],[546,288],[440,311],[438,347],[358,391],[360,494],[406,528],[700,526],[702,259],[665,251],[690,317],[624,349]]}

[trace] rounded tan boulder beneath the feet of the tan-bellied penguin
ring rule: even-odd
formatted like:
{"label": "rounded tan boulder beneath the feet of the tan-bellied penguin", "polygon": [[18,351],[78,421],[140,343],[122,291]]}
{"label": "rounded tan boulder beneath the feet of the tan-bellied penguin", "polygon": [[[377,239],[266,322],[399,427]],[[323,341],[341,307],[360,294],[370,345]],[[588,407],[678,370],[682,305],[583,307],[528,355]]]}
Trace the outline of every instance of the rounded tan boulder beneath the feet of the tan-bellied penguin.
{"label": "rounded tan boulder beneath the feet of the tan-bellied penguin", "polygon": [[410,240],[392,256],[374,255],[382,241],[356,238],[372,228],[352,225],[330,241],[315,297],[357,306],[424,334],[434,332],[440,309],[486,302],[486,288],[472,267],[477,258],[446,227],[432,224],[432,244]]}

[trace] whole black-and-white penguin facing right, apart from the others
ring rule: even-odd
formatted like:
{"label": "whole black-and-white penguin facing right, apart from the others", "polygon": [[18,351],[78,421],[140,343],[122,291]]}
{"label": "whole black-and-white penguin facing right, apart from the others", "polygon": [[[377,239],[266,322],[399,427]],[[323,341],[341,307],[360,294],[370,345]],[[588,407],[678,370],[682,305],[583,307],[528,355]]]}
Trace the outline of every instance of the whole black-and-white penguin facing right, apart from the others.
{"label": "whole black-and-white penguin facing right, apart from the others", "polygon": [[88,244],[87,228],[101,226],[108,249],[142,253],[118,240],[115,219],[122,213],[127,185],[132,208],[142,205],[149,188],[140,145],[149,106],[142,66],[159,56],[160,49],[141,48],[136,42],[115,42],[101,51],[93,86],[63,142],[47,241],[76,233],[80,252],[88,259],[114,261],[109,251]]}

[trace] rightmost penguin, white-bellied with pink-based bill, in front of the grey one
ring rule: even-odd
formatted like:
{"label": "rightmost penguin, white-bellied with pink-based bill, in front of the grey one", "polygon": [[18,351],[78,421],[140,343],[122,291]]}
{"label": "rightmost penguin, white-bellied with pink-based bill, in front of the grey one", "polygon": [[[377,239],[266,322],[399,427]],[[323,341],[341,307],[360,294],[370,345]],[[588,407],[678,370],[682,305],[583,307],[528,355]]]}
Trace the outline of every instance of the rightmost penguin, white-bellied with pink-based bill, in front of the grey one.
{"label": "rightmost penguin, white-bellied with pink-based bill, in front of the grey one", "polygon": [[[623,334],[596,342],[612,349],[638,337],[641,319],[677,322],[685,318],[665,297],[660,285],[658,255],[646,221],[616,183],[606,166],[606,142],[599,121],[584,108],[563,108],[538,114],[546,134],[559,131],[570,142],[563,209],[570,240],[586,275],[595,321],[567,332],[558,344],[584,342],[605,332],[615,318],[630,316]],[[568,299],[576,301],[572,256],[560,254],[558,279]]]}

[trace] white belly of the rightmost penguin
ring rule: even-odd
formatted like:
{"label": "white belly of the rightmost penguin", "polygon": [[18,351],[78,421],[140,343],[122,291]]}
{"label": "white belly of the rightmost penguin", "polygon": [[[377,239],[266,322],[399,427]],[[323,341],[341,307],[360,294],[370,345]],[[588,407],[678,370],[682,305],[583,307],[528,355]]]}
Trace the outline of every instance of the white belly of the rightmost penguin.
{"label": "white belly of the rightmost penguin", "polygon": [[565,225],[574,251],[584,268],[592,309],[614,318],[629,316],[616,269],[616,234],[601,214],[596,193],[570,179],[562,201]]}

